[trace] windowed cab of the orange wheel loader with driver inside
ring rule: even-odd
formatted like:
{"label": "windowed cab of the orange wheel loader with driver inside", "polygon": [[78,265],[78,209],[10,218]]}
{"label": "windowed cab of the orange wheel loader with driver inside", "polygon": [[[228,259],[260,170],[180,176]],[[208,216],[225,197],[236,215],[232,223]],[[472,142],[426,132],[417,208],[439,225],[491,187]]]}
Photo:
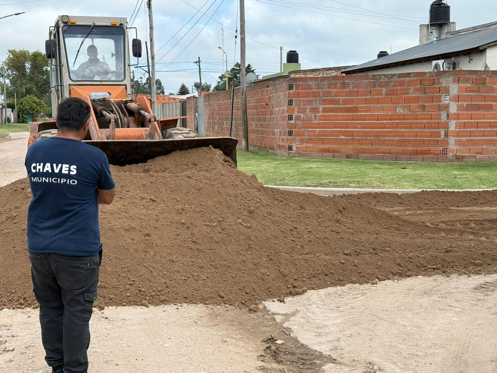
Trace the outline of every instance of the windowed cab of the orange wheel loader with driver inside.
{"label": "windowed cab of the orange wheel loader with driver inside", "polygon": [[[136,29],[127,29],[124,17],[61,15],[56,19],[45,42],[50,60],[52,115],[63,97],[84,99],[90,93],[103,92],[112,98],[127,98],[132,93],[128,31],[136,34]],[[141,57],[141,48],[135,50],[141,42],[136,40],[133,54]]]}

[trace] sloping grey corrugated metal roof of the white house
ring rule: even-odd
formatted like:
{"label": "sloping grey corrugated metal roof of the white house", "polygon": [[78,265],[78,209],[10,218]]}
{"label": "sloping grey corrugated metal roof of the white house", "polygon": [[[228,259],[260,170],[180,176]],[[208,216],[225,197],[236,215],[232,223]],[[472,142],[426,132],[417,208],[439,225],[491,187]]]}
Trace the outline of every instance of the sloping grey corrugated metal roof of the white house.
{"label": "sloping grey corrugated metal roof of the white house", "polygon": [[482,45],[492,43],[497,40],[497,27],[488,28],[469,32],[467,34],[450,36],[435,43],[416,45],[413,48],[405,49],[400,52],[392,53],[388,56],[377,58],[361,65],[356,65],[342,70],[342,73],[353,72],[356,70],[384,67],[403,61],[417,60],[426,57],[439,56],[448,53],[461,52],[468,49],[478,48]]}

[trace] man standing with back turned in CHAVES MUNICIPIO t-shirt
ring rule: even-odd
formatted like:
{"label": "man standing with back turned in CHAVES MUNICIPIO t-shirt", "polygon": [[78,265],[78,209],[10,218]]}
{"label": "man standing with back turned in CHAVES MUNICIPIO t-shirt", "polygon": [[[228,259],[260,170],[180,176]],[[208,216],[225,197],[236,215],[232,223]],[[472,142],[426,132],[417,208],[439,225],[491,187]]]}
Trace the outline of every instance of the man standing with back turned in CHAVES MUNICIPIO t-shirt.
{"label": "man standing with back turned in CHAVES MUNICIPIO t-shirt", "polygon": [[102,258],[98,203],[114,197],[107,156],[82,142],[89,121],[85,101],[64,99],[57,135],[35,141],[25,161],[33,193],[27,219],[31,276],[45,360],[56,373],[88,369],[88,322]]}

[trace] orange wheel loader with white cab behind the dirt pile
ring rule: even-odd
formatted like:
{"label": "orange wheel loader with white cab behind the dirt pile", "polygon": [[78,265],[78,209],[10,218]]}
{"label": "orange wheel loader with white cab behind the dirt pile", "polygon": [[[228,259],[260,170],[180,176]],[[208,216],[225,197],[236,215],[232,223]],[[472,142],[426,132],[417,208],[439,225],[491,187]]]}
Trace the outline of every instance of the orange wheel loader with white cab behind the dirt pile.
{"label": "orange wheel loader with white cab behind the dirt pile", "polygon": [[[129,34],[135,35],[131,43]],[[136,60],[130,60],[130,49]],[[236,164],[238,140],[199,137],[191,129],[176,127],[182,117],[157,119],[150,98],[134,92],[131,68],[139,63],[142,43],[126,18],[60,15],[49,29],[45,52],[52,113],[65,97],[85,100],[92,111],[83,141],[105,152],[110,164],[143,163],[176,150],[208,146]],[[56,133],[55,120],[31,122],[28,146]]]}

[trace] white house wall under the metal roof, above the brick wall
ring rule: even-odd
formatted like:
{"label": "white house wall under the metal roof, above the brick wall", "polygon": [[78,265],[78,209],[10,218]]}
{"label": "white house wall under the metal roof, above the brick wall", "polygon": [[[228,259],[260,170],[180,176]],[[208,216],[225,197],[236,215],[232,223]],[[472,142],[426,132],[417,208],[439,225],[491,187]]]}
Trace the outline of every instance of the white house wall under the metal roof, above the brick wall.
{"label": "white house wall under the metal roof, above the brick wall", "polygon": [[[458,62],[458,69],[461,70],[485,70],[485,63],[487,63],[491,70],[497,70],[497,46],[487,48],[486,50],[484,49],[483,51],[478,53],[473,52],[471,53],[470,57],[468,57],[468,55],[456,55],[454,56],[454,58]],[[432,61],[427,61],[353,74],[397,74],[432,70]]]}

